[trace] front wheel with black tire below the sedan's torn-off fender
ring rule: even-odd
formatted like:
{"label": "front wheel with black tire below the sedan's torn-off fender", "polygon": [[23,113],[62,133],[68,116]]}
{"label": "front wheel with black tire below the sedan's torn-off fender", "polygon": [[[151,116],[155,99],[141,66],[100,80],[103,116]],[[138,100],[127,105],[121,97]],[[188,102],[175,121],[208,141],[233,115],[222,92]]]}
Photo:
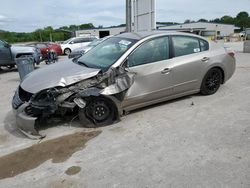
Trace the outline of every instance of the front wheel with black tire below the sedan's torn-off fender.
{"label": "front wheel with black tire below the sedan's torn-off fender", "polygon": [[104,98],[95,98],[86,108],[79,109],[79,119],[87,128],[107,126],[115,121],[115,107]]}

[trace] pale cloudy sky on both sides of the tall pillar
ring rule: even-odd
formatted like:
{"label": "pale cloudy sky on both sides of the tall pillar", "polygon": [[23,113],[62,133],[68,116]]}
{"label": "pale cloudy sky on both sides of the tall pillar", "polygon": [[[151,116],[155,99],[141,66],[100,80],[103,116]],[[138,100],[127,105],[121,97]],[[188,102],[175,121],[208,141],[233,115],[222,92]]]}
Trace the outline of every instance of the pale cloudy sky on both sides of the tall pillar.
{"label": "pale cloudy sky on both sides of the tall pillar", "polygon": [[[37,28],[93,23],[125,23],[125,0],[0,0],[0,30],[30,32]],[[250,14],[250,0],[156,0],[156,19],[184,22]]]}

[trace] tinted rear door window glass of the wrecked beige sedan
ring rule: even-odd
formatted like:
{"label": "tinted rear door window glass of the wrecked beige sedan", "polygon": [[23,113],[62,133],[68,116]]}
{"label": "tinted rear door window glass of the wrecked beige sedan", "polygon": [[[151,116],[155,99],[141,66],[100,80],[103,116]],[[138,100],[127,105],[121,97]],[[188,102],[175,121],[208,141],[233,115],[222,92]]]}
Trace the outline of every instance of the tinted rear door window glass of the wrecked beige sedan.
{"label": "tinted rear door window glass of the wrecked beige sedan", "polygon": [[186,36],[173,36],[173,48],[175,57],[198,53],[201,51],[199,39]]}

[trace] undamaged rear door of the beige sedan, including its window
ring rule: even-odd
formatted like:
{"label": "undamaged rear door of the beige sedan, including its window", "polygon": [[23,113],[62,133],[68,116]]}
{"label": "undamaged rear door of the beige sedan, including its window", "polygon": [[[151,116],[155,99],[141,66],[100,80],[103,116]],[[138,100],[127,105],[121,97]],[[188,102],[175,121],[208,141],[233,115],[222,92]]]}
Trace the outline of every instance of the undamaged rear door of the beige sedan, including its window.
{"label": "undamaged rear door of the beige sedan, including its window", "polygon": [[207,41],[191,36],[172,36],[174,93],[197,90],[209,62]]}

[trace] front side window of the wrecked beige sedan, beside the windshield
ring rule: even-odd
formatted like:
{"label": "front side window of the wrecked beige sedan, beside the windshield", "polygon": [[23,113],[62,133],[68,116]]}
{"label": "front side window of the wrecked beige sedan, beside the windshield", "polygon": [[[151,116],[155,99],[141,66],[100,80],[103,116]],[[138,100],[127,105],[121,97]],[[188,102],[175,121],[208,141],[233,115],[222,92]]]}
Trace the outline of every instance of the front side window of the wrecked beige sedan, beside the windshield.
{"label": "front side window of the wrecked beige sedan, beside the windshield", "polygon": [[169,59],[168,37],[152,39],[139,46],[128,58],[129,67]]}

